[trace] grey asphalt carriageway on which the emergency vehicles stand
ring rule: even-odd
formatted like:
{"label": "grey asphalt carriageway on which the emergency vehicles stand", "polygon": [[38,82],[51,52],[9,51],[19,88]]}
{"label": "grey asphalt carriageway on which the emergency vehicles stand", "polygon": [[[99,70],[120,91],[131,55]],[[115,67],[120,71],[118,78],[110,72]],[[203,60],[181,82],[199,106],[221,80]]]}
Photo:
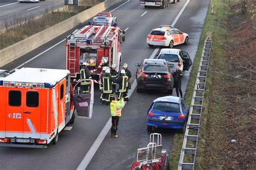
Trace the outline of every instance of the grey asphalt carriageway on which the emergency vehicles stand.
{"label": "grey asphalt carriageway on which the emergency vehicles stand", "polygon": [[[113,6],[108,11],[112,11],[122,3]],[[185,10],[180,13],[186,3]],[[148,47],[146,37],[154,27],[158,27],[161,24],[170,25],[174,23],[175,27],[189,34],[190,41],[188,45],[174,46],[174,48],[188,52],[191,59],[194,59],[209,3],[210,0],[192,0],[190,2],[181,0],[177,4],[170,4],[166,9],[145,9],[139,5],[137,0],[131,0],[112,11],[112,14],[117,16],[118,25],[127,30],[126,41],[121,45],[121,51],[122,63],[127,63],[132,72],[131,83],[135,80],[136,74],[134,64],[145,58],[152,58],[154,57],[153,54],[157,53],[159,48]],[[78,27],[82,26],[79,25]],[[22,67],[65,69],[65,42],[60,41],[75,29],[3,66],[1,69],[15,69],[40,53],[42,54],[25,63]],[[49,49],[53,45],[56,46]],[[189,76],[189,71],[184,73],[182,81],[183,93],[185,93]],[[136,93],[135,90],[130,97],[130,101],[126,103],[125,108],[122,110],[118,130],[120,137],[113,139],[110,137],[110,132],[108,132],[98,150],[95,150],[95,155],[91,155],[93,157],[86,169],[129,169],[135,160],[137,148],[146,147],[147,143],[149,143],[150,133],[146,131],[147,109],[154,99],[166,95],[171,94],[153,90]],[[175,90],[173,95],[176,96]],[[107,121],[109,121],[109,118],[110,108],[99,103],[99,91],[96,90],[92,119],[77,118],[75,124],[72,125],[73,129],[61,132],[58,144],[48,146],[46,149],[0,147],[1,168],[76,169],[93,143],[95,143],[95,140],[97,139],[98,141],[97,137],[102,132]],[[163,135],[163,149],[170,150],[172,138],[177,131],[157,129],[154,132],[159,132]]]}

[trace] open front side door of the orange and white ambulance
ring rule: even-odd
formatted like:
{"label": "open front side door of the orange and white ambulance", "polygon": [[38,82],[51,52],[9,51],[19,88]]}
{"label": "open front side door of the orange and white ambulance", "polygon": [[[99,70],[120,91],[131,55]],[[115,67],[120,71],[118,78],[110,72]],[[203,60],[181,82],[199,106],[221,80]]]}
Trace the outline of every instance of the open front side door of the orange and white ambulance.
{"label": "open front side door of the orange and white ambulance", "polygon": [[[80,87],[78,86],[81,81],[91,81],[90,84],[90,93],[81,93]],[[92,117],[92,108],[94,101],[94,89],[93,89],[93,80],[91,79],[83,79],[79,80],[75,87],[73,88],[73,102],[77,112],[78,118],[87,118],[90,119]]]}

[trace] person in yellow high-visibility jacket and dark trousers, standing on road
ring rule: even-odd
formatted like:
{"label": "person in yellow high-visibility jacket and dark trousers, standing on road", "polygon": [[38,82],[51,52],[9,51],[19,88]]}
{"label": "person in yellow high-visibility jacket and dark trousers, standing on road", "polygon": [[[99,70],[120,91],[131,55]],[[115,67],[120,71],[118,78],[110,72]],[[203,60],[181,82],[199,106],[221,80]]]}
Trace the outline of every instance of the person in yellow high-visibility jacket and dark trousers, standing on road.
{"label": "person in yellow high-visibility jacket and dark trousers, standing on road", "polygon": [[118,138],[117,134],[117,128],[119,123],[119,117],[121,116],[121,110],[124,107],[124,100],[117,101],[117,97],[113,96],[111,98],[112,102],[110,103],[110,112],[111,112],[111,118],[112,118],[112,126],[111,126],[111,136],[113,138]]}

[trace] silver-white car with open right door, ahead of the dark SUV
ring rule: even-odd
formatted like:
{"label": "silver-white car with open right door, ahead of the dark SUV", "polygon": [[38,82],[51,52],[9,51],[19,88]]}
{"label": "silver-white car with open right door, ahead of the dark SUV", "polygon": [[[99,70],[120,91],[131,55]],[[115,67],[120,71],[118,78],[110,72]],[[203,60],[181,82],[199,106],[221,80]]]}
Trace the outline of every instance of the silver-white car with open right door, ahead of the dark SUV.
{"label": "silver-white car with open right door, ahead of the dark SUV", "polygon": [[157,59],[164,59],[168,62],[171,72],[175,71],[176,66],[179,66],[181,72],[183,72],[184,70],[190,69],[190,66],[192,65],[190,55],[180,49],[163,48],[160,53],[156,55]]}

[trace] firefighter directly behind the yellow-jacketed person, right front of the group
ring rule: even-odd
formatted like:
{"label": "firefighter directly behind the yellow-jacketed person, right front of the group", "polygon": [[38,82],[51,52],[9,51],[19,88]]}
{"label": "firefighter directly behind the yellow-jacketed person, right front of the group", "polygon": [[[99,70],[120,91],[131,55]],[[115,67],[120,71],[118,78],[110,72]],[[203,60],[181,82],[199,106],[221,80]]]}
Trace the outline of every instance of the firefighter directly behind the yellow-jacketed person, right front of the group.
{"label": "firefighter directly behind the yellow-jacketed person, right front of the group", "polygon": [[122,69],[120,71],[120,76],[117,79],[117,83],[119,84],[118,89],[118,100],[124,97],[124,101],[129,101],[128,95],[126,93],[126,86],[127,86],[128,76],[125,74],[125,70]]}

